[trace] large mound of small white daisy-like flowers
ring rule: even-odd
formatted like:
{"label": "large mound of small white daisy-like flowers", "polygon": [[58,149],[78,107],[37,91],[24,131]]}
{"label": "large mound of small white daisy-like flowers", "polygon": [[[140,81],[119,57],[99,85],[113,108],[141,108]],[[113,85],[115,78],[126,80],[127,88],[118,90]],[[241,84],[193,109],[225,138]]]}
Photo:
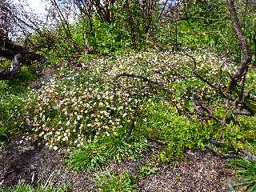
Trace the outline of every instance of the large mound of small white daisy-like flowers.
{"label": "large mound of small white daisy-like flowers", "polygon": [[[193,55],[199,71],[213,79],[218,77],[217,55]],[[190,85],[182,79],[171,79],[190,75],[193,65],[191,58],[184,55],[150,52],[93,59],[63,74],[69,68],[66,64],[42,89],[31,90],[26,106],[27,122],[49,146],[80,146],[98,134],[110,134],[127,126],[131,119],[136,119],[144,103],[162,88],[172,93],[173,101],[180,102],[190,87],[209,92],[194,77],[190,78]],[[135,75],[120,75],[124,73]]]}

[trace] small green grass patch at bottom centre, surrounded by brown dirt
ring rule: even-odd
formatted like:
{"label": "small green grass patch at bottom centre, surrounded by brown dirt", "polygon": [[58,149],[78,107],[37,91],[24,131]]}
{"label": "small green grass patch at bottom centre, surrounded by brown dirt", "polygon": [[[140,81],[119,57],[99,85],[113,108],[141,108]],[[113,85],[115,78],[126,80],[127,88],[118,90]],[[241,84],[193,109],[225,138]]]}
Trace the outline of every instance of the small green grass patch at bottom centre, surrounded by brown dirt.
{"label": "small green grass patch at bottom centre, surrounded by brown dirt", "polygon": [[136,192],[135,178],[127,173],[102,174],[97,176],[99,192]]}

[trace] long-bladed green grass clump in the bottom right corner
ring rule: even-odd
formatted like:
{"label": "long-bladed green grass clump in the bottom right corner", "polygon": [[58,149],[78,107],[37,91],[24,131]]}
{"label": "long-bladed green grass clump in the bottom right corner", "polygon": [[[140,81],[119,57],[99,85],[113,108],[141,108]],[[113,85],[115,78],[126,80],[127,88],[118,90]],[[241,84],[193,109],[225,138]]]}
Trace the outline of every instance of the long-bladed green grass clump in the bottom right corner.
{"label": "long-bladed green grass clump in the bottom right corner", "polygon": [[246,158],[234,159],[229,161],[229,166],[235,168],[238,177],[242,179],[235,186],[247,186],[248,192],[256,191],[256,162]]}

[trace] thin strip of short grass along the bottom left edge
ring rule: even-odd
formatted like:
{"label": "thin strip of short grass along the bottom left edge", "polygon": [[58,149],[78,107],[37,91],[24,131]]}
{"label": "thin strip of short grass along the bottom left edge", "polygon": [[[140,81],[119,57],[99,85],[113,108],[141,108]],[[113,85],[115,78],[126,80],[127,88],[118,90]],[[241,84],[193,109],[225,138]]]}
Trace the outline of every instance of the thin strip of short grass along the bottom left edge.
{"label": "thin strip of short grass along the bottom left edge", "polygon": [[30,186],[27,184],[18,184],[8,188],[0,188],[0,192],[68,192],[70,191],[69,185],[54,186],[49,184],[48,186],[38,185]]}

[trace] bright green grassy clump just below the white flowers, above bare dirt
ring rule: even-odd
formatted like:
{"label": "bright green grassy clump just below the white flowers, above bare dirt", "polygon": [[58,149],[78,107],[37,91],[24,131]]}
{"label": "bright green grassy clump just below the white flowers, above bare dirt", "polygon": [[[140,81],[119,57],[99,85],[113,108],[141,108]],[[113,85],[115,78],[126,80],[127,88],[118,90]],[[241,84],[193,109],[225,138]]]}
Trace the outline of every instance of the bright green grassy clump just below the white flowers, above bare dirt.
{"label": "bright green grassy clump just below the white flowers, above bare dirt", "polygon": [[131,135],[126,141],[126,130],[118,130],[110,135],[100,135],[94,141],[74,149],[67,165],[75,170],[98,170],[110,160],[121,162],[124,159],[133,159],[146,150],[146,139],[138,133]]}

